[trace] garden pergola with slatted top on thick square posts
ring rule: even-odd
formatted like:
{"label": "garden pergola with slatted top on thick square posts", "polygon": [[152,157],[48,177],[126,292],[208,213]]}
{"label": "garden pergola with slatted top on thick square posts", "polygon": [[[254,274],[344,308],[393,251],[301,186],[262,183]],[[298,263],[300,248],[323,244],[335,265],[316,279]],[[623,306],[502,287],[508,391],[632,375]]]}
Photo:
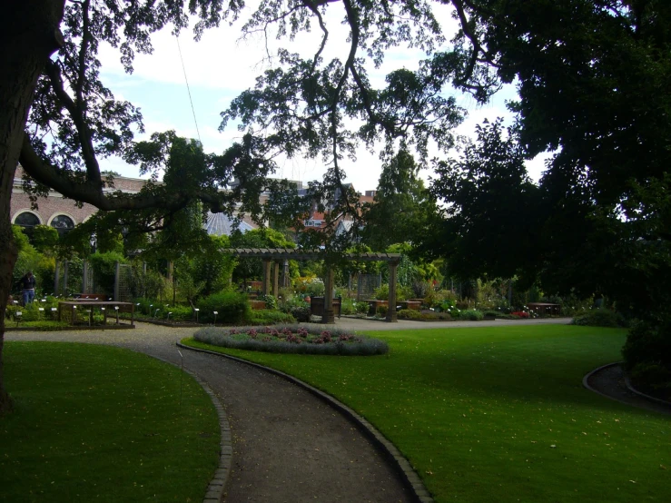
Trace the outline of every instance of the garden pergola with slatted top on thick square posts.
{"label": "garden pergola with slatted top on thick square posts", "polygon": [[[261,291],[264,295],[272,293],[277,295],[280,280],[280,262],[291,261],[325,261],[326,277],[324,278],[324,313],[321,316],[322,323],[335,323],[333,313],[333,255],[321,250],[293,250],[291,248],[227,248],[222,250],[236,257],[249,259],[261,259],[263,261],[263,281]],[[390,298],[389,310],[387,310],[387,321],[398,321],[396,318],[396,278],[400,262],[400,253],[342,253],[338,259],[347,261],[385,261],[390,268]],[[271,264],[275,267],[272,272]]]}

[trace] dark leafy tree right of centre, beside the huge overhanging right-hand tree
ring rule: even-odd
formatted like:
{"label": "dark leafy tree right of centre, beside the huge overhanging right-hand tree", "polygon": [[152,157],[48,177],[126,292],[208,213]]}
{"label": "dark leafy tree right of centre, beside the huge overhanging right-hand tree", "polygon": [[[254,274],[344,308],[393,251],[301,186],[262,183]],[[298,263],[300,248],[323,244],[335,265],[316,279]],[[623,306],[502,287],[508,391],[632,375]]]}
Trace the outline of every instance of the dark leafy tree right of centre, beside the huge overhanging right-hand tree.
{"label": "dark leafy tree right of centre, beside the huge overhanging right-hand tree", "polygon": [[537,273],[540,190],[528,178],[525,150],[502,120],[477,127],[478,140],[463,140],[461,155],[436,165],[430,190],[446,203],[419,229],[419,252],[445,257],[461,280]]}

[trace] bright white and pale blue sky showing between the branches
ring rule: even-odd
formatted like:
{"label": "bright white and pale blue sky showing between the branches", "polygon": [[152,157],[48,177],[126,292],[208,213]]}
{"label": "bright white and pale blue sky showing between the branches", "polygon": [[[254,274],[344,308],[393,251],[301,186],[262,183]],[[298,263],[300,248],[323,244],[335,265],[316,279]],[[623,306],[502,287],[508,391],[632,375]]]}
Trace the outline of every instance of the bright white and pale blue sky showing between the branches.
{"label": "bright white and pale blue sky showing between the branches", "polygon": [[[330,12],[331,15],[326,18],[330,44],[327,45],[324,57],[328,60],[340,56],[344,60],[349,51],[349,45],[346,44],[348,32],[340,25],[340,13],[331,8]],[[453,21],[449,12],[439,13],[439,19],[447,20],[444,29],[451,33],[449,30]],[[270,67],[267,54],[275,54],[280,44],[294,52],[313,54],[320,40],[317,33],[301,35],[291,44],[287,44],[286,40],[280,43],[274,38],[266,43],[262,35],[240,40],[240,26],[222,24],[219,28],[206,31],[199,42],[193,40],[188,30],[182,32],[179,41],[169,29],[163,30],[153,35],[153,54],[136,55],[133,74],[124,72],[115,49],[106,45],[101,47],[101,76],[104,84],[117,99],[130,101],[140,107],[143,113],[145,133],[138,134],[137,140],[148,139],[154,132],[173,129],[181,136],[200,138],[205,152],[222,153],[242,133],[237,130],[236,124],[229,124],[220,132],[220,113],[227,109],[238,94],[253,87],[256,76]],[[414,70],[421,56],[414,49],[395,48],[385,55],[384,64],[379,69],[370,68],[370,80],[381,87],[387,73],[400,67]],[[455,93],[446,90],[445,94]],[[503,89],[484,106],[478,106],[469,96],[458,95],[458,103],[467,109],[468,115],[455,133],[472,136],[476,124],[485,118],[493,120],[503,116],[509,121],[511,115],[506,109],[506,101],[515,97],[512,86]],[[377,187],[381,172],[377,153],[369,153],[361,148],[356,161],[346,159],[341,166],[347,174],[346,182],[352,182],[359,192]],[[123,176],[139,176],[136,166],[128,165],[118,158],[102,160],[101,169],[115,171]],[[538,180],[542,170],[543,159],[528,163],[529,175],[534,180]],[[279,170],[274,176],[309,182],[321,180],[324,171],[321,159],[280,159]],[[420,173],[425,179],[429,179],[430,175],[428,170]]]}

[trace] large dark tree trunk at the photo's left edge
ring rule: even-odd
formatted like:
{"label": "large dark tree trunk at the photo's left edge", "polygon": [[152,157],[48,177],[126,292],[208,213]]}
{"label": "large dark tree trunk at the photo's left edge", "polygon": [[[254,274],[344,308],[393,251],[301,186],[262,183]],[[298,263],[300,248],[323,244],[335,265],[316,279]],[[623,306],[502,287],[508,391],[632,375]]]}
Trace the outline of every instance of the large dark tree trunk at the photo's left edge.
{"label": "large dark tree trunk at the photo's left edge", "polygon": [[63,44],[63,9],[64,0],[15,0],[0,7],[0,415],[11,408],[3,379],[5,309],[17,256],[9,201],[37,78]]}

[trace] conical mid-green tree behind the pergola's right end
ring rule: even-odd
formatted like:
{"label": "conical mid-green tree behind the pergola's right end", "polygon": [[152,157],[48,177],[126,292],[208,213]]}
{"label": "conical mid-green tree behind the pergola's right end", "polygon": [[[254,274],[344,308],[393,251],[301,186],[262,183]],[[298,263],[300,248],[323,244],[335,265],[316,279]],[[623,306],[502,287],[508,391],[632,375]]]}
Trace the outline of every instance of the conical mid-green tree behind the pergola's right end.
{"label": "conical mid-green tree behind the pergola's right end", "polygon": [[364,208],[363,242],[378,251],[395,242],[416,242],[419,230],[437,210],[412,154],[401,150],[382,166],[375,198]]}

